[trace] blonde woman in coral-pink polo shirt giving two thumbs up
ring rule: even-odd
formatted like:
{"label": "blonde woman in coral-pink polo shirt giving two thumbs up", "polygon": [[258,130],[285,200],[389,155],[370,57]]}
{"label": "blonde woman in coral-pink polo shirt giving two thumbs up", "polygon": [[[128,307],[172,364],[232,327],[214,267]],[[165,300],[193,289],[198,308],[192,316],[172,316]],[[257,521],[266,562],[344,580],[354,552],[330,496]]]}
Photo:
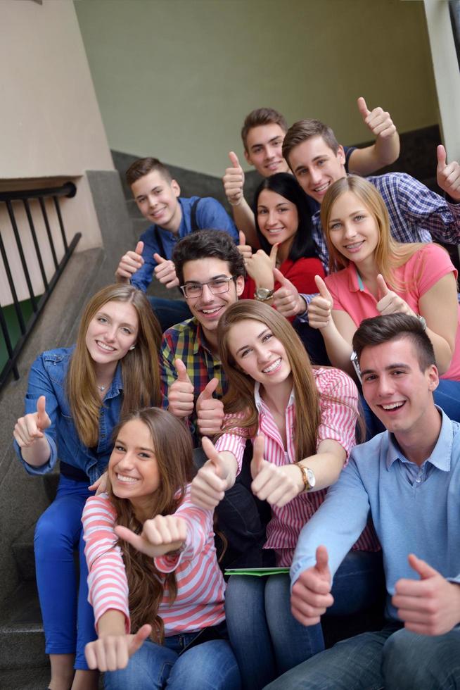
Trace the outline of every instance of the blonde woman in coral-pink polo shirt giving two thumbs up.
{"label": "blonde woman in coral-pink polo shirt giving two thumbs up", "polygon": [[426,325],[435,350],[440,372],[435,402],[460,421],[460,311],[457,272],[447,251],[436,244],[395,242],[381,195],[353,175],[328,189],[321,225],[331,275],[316,277],[319,296],[310,303],[308,318],[321,330],[331,363],[352,373],[352,337],[365,318],[413,315]]}

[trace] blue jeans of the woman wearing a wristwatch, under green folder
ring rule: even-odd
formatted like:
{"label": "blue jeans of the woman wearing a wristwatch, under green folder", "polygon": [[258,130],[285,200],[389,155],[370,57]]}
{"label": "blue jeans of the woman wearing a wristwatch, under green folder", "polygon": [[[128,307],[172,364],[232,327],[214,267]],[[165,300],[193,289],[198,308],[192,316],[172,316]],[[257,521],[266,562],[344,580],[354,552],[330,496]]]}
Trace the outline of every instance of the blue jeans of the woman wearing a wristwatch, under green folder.
{"label": "blue jeans of the woman wearing a wristwatch, under green folder", "polygon": [[[350,551],[334,577],[331,615],[368,609],[383,595],[381,552]],[[305,627],[290,613],[288,575],[232,575],[225,611],[243,688],[257,690],[324,650],[321,625]]]}

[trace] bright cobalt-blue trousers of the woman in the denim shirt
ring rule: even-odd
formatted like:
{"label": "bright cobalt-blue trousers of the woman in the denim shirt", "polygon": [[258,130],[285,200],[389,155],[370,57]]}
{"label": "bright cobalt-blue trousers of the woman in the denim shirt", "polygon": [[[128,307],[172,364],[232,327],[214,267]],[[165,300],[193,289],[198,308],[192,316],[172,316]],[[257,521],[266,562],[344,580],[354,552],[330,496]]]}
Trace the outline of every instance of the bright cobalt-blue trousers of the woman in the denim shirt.
{"label": "bright cobalt-blue trousers of the woman in the denim shirt", "polygon": [[[75,668],[87,669],[84,646],[96,639],[94,613],[88,603],[88,569],[84,558],[82,511],[88,482],[60,476],[51,506],[37,522],[35,568],[47,654],[74,654]],[[79,584],[74,550],[79,549]]]}

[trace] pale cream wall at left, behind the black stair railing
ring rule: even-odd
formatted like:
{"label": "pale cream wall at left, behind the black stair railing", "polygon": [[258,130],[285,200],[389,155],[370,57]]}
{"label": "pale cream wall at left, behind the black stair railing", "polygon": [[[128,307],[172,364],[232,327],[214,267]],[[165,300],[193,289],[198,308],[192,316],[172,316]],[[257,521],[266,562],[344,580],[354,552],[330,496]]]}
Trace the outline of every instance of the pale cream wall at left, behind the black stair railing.
{"label": "pale cream wall at left, behind the black stair railing", "polygon": [[[72,179],[75,199],[63,199],[61,209],[68,237],[82,232],[78,251],[101,245],[85,170],[113,170],[87,56],[71,0],[0,2],[0,189],[46,187]],[[43,290],[34,260],[30,231],[18,208],[20,235],[30,258],[32,283]],[[52,215],[52,213],[51,213]],[[37,215],[39,242],[46,245],[44,223]],[[11,224],[0,203],[0,228],[19,299],[28,291],[20,268]],[[59,246],[59,238],[57,239]],[[60,248],[58,258],[62,256]],[[45,253],[49,275],[51,256]],[[0,303],[11,302],[0,261]]]}

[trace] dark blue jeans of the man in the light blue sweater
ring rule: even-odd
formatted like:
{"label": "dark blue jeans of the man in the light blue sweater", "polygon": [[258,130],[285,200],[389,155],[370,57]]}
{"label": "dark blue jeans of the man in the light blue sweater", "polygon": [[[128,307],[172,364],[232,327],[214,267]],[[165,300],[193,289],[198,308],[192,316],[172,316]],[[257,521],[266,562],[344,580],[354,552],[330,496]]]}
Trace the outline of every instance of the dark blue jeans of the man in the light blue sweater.
{"label": "dark blue jeans of the man in the light blue sweater", "polygon": [[318,654],[266,690],[453,690],[460,688],[460,628],[417,635],[398,623]]}

